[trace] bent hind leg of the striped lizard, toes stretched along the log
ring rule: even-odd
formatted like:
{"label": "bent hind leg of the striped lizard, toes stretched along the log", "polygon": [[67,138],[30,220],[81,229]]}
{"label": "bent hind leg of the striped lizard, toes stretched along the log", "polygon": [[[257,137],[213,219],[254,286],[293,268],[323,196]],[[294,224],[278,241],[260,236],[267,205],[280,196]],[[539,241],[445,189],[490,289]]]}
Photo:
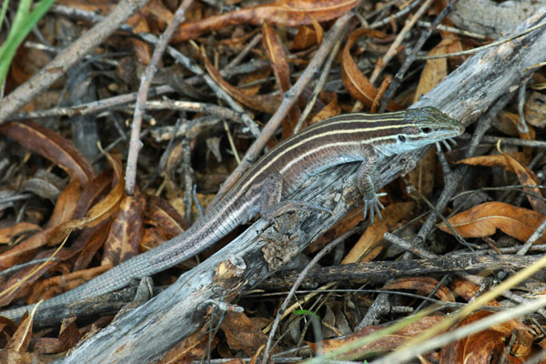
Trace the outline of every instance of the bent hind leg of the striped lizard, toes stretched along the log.
{"label": "bent hind leg of the striped lizard, toes stretched along the log", "polygon": [[275,172],[265,177],[258,184],[258,205],[260,217],[271,221],[290,211],[312,211],[319,210],[332,214],[329,208],[320,207],[305,201],[296,201],[292,199],[281,201],[283,179],[280,173]]}

